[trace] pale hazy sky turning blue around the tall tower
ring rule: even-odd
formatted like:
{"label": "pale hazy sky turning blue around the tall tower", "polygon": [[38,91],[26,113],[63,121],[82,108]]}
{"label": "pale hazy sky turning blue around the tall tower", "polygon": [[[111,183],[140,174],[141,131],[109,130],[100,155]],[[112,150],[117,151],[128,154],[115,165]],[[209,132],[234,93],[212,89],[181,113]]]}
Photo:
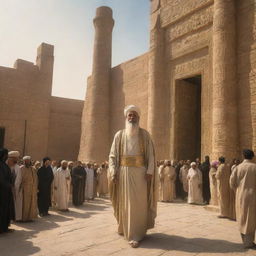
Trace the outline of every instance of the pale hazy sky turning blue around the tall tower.
{"label": "pale hazy sky turning blue around the tall tower", "polygon": [[54,45],[52,95],[84,99],[91,74],[96,8],[113,9],[112,66],[149,48],[149,0],[0,0],[0,66],[35,63],[37,47]]}

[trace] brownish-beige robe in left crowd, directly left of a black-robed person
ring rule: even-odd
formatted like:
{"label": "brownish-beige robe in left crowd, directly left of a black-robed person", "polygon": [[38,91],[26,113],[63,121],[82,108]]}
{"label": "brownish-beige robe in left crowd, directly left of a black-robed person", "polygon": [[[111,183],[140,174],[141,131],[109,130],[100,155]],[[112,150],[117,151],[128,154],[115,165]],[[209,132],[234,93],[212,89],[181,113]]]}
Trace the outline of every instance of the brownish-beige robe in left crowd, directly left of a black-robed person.
{"label": "brownish-beige robe in left crowd, directly left of a black-robed person", "polygon": [[22,200],[22,220],[28,221],[37,218],[37,173],[33,166],[27,168],[22,166],[21,169],[21,188],[23,194]]}

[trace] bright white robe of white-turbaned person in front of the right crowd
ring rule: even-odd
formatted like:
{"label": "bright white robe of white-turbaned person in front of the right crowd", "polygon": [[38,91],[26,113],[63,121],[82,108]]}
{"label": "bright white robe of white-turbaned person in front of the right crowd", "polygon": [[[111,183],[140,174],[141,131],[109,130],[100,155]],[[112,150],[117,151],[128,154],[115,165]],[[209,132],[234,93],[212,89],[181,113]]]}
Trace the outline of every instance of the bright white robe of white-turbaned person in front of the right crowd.
{"label": "bright white robe of white-turbaned person in front of the right crowd", "polygon": [[196,168],[190,168],[188,171],[188,203],[202,204],[202,173]]}

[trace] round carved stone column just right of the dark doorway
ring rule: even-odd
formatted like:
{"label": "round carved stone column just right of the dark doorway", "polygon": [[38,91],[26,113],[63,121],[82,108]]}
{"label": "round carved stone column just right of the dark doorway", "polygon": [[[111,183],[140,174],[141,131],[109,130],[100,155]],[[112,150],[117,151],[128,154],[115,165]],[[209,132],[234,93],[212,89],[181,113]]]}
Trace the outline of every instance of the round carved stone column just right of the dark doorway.
{"label": "round carved stone column just right of the dark doorway", "polygon": [[235,1],[215,0],[213,17],[212,159],[238,155]]}

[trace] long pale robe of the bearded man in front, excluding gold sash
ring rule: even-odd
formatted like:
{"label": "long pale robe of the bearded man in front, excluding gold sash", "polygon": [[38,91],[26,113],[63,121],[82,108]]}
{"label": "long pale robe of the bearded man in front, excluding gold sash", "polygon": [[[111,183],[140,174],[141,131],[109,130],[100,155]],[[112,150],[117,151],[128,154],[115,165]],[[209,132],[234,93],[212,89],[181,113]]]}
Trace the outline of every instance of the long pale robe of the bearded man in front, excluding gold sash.
{"label": "long pale robe of the bearded man in front, excluding gold sash", "polygon": [[[140,241],[145,236],[147,229],[153,227],[152,219],[155,216],[150,215],[150,207],[153,204],[150,203],[150,197],[157,195],[157,185],[153,190],[150,190],[148,194],[148,185],[145,179],[146,174],[152,175],[152,183],[157,180],[155,175],[155,159],[154,159],[154,148],[150,140],[148,133],[145,130],[144,136],[147,137],[147,160],[145,167],[128,167],[120,166],[117,168],[116,165],[119,161],[119,156],[123,153],[125,156],[138,156],[141,155],[139,135],[128,136],[126,132],[118,132],[114,138],[111,152],[109,156],[109,168],[111,177],[118,175],[118,186],[117,186],[117,200],[113,199],[112,203],[115,210],[115,216],[118,222],[118,232],[124,234],[124,237],[128,241]],[[123,134],[123,135],[122,135]],[[122,136],[124,137],[122,140]],[[119,143],[119,142],[124,143]],[[119,145],[121,144],[121,147]],[[120,150],[122,152],[120,152]],[[146,167],[147,166],[147,167]],[[151,187],[149,185],[149,188]],[[156,196],[157,197],[157,196]],[[157,198],[155,197],[155,207]],[[156,209],[155,209],[156,211]]]}

